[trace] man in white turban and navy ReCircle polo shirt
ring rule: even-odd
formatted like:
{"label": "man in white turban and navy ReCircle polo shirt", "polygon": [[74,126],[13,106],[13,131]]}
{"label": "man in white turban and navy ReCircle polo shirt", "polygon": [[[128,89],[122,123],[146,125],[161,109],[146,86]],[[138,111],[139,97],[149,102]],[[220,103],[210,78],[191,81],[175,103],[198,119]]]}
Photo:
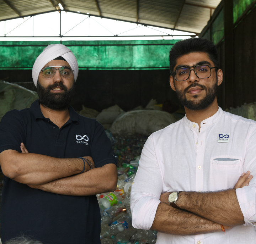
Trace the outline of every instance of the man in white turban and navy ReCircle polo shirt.
{"label": "man in white turban and navy ReCircle polo shirt", "polygon": [[23,233],[44,244],[100,244],[96,194],[116,189],[117,156],[101,124],[70,106],[78,77],[71,50],[47,46],[32,77],[39,100],[0,124],[1,240]]}

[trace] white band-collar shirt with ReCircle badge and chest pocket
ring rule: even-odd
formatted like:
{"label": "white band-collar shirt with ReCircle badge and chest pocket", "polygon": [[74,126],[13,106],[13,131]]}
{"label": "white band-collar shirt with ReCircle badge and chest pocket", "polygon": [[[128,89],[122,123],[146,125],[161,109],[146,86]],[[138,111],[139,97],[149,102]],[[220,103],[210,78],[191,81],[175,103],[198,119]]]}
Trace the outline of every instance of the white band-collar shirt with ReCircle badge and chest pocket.
{"label": "white band-collar shirt with ReCircle badge and chest pocket", "polygon": [[[201,122],[185,116],[150,135],[142,150],[131,191],[132,223],[149,229],[160,195],[172,191],[218,191],[233,188],[243,172],[249,186],[236,189],[245,224],[199,235],[158,233],[158,244],[256,243],[256,122],[224,112]],[[230,216],[231,217],[231,216]]]}

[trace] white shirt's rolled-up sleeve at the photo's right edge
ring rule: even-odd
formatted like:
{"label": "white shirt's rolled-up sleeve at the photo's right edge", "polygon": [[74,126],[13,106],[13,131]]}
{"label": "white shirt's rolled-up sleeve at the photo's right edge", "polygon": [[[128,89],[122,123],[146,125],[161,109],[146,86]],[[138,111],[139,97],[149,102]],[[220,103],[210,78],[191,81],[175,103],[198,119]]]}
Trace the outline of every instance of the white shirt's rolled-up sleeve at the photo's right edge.
{"label": "white shirt's rolled-up sleeve at the photo's right edge", "polygon": [[244,215],[245,226],[256,225],[256,129],[248,133],[243,172],[253,176],[249,186],[236,189],[236,196]]}

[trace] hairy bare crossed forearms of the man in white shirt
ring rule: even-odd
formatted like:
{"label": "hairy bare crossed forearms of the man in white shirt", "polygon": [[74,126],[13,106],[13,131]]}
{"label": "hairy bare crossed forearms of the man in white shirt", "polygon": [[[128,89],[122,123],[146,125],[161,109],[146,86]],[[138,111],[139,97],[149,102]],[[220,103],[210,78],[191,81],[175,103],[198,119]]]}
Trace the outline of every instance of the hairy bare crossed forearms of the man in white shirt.
{"label": "hairy bare crossed forearms of the man in white shirt", "polygon": [[151,229],[191,235],[222,231],[220,224],[225,229],[244,224],[235,189],[249,184],[252,179],[249,175],[250,172],[243,174],[234,189],[212,193],[181,192],[176,202],[180,209],[169,205],[170,193],[162,194]]}

